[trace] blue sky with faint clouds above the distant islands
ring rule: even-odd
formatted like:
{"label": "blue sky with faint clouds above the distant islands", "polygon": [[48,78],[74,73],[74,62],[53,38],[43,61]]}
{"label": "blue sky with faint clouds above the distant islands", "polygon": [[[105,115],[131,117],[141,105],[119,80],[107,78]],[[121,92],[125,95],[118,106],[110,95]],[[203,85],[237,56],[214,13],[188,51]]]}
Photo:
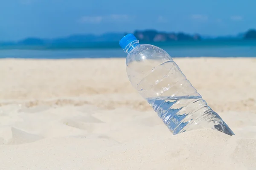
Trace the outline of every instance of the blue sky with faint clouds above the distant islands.
{"label": "blue sky with faint clouds above the distant islands", "polygon": [[256,0],[2,0],[0,41],[153,28],[202,35],[256,28]]}

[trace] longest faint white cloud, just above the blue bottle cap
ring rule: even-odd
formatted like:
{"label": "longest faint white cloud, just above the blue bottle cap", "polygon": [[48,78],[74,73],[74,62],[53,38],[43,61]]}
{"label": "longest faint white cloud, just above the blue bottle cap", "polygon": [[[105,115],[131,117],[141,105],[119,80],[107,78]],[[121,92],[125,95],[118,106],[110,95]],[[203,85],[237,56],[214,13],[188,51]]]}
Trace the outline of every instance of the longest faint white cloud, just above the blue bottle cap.
{"label": "longest faint white cloud, just above the blue bottle cap", "polygon": [[83,16],[79,19],[79,22],[99,24],[102,22],[116,22],[116,21],[123,21],[123,20],[129,20],[129,19],[130,17],[125,14],[111,14],[107,16]]}

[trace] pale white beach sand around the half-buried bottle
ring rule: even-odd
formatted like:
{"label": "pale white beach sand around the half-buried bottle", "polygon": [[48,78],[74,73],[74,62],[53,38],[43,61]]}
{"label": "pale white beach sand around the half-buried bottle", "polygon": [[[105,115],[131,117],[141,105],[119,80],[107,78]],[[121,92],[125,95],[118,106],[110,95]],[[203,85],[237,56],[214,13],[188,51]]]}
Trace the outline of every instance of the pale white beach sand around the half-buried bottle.
{"label": "pale white beach sand around the half-buried bottle", "polygon": [[173,136],[125,59],[0,60],[0,170],[255,170],[256,59],[175,59],[236,136]]}

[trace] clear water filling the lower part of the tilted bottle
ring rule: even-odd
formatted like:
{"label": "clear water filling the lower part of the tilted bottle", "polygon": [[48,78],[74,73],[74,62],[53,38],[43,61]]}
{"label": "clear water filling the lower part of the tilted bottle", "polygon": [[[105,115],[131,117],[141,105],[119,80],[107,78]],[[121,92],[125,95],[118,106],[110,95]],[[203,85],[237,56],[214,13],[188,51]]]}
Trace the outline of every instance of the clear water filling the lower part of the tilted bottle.
{"label": "clear water filling the lower part of the tilted bottle", "polygon": [[147,101],[174,135],[199,128],[212,128],[234,135],[201,96],[162,96],[148,98]]}

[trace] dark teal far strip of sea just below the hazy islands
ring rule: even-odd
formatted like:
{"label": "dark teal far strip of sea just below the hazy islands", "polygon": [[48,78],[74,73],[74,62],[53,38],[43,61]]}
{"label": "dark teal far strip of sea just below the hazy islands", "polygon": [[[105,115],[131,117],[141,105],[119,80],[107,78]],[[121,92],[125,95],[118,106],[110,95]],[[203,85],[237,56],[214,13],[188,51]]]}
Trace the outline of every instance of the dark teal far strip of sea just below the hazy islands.
{"label": "dark teal far strip of sea just below the hazy islands", "polygon": [[[241,40],[241,39],[230,39],[230,40],[200,40],[200,41],[169,41],[169,42],[147,42],[140,41],[140,43],[152,44],[159,47],[168,48],[196,48],[196,47],[223,47],[223,46],[248,46],[256,47],[256,40]],[[18,44],[2,44],[0,50],[84,50],[84,49],[119,49],[119,42],[67,42],[67,43],[49,43],[49,44],[38,44],[38,45],[18,45]]]}

